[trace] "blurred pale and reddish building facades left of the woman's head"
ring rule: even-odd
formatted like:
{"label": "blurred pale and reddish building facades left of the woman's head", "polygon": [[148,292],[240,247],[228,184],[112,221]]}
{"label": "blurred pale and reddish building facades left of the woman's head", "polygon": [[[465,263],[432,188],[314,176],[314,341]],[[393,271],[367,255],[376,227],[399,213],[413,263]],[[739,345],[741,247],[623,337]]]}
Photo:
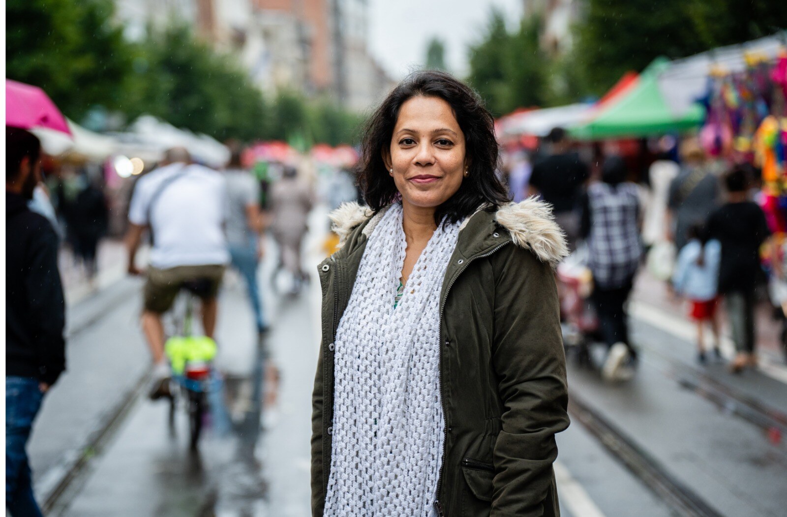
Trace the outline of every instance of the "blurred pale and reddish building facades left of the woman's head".
{"label": "blurred pale and reddish building facades left of the woman's head", "polygon": [[369,0],[115,0],[128,39],[186,24],[217,50],[238,55],[268,94],[332,98],[361,111],[393,80],[371,56]]}

